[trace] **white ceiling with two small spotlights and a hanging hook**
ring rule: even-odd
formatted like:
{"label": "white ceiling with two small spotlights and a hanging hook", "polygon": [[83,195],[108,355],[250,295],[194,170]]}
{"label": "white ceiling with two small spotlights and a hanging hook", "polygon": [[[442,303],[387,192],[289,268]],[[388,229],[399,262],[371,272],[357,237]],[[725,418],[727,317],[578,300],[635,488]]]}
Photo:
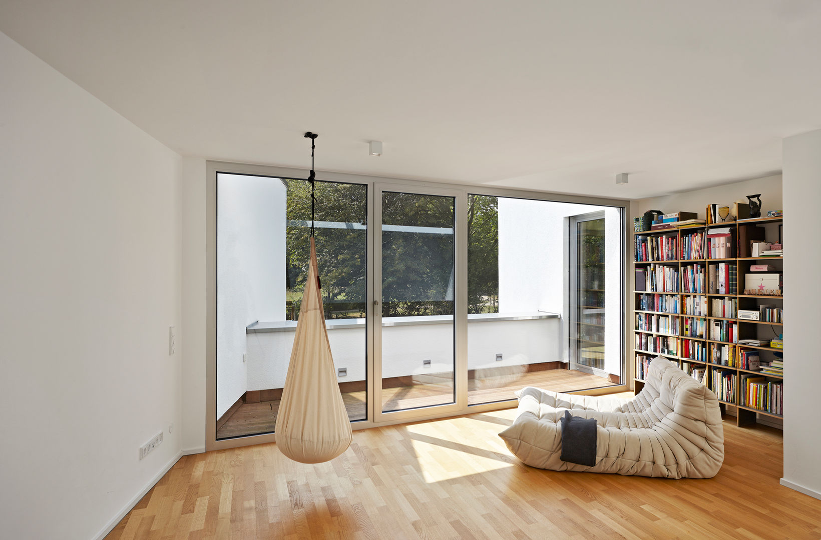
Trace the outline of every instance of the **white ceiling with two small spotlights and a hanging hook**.
{"label": "white ceiling with two small spotlights and a hanging hook", "polygon": [[0,30],[226,161],[308,166],[312,130],[318,170],[639,198],[777,172],[821,127],[812,0],[0,0]]}

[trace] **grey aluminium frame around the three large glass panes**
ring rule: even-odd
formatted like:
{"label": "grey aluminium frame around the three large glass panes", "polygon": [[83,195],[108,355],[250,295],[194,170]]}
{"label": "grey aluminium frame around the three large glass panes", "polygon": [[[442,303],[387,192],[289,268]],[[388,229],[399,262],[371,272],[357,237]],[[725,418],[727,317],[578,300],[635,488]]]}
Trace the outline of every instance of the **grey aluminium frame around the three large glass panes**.
{"label": "grey aluminium frame around the three large glass panes", "polygon": [[[260,435],[248,435],[246,437],[228,438],[218,440],[217,435],[217,174],[227,173],[236,175],[260,175],[269,177],[305,179],[308,177],[309,170],[303,168],[280,167],[280,166],[264,166],[264,165],[250,165],[244,163],[236,163],[231,161],[206,161],[205,163],[205,323],[206,323],[206,343],[205,343],[205,449],[206,451],[222,450],[226,448],[243,447],[252,444],[260,444],[264,442],[273,442],[273,433],[264,433]],[[627,234],[629,231],[626,228],[626,214],[630,209],[630,201],[626,199],[608,198],[608,197],[589,197],[585,195],[569,195],[565,193],[552,193],[547,191],[536,191],[518,188],[496,188],[488,187],[486,185],[477,184],[455,184],[452,182],[436,182],[436,181],[422,181],[410,179],[395,179],[381,176],[355,175],[350,173],[339,173],[319,170],[316,173],[316,178],[319,180],[327,180],[331,182],[343,182],[347,184],[366,184],[368,186],[368,223],[376,223],[376,204],[375,196],[377,194],[377,184],[380,188],[390,188],[391,190],[401,191],[404,188],[412,188],[415,192],[423,192],[424,190],[431,190],[431,194],[436,192],[460,192],[457,194],[456,208],[465,209],[468,193],[473,195],[488,195],[491,197],[513,197],[550,202],[569,202],[578,204],[589,204],[594,206],[613,206],[621,208],[621,361],[622,372],[625,383],[617,386],[609,386],[603,388],[592,388],[590,390],[580,391],[582,395],[602,395],[605,393],[626,392],[630,390],[629,381],[632,380],[631,362],[626,362],[628,355],[627,344],[628,336],[626,330],[626,317],[630,311],[631,306],[626,302],[626,281],[627,275],[627,259],[628,253],[625,250],[627,243]],[[461,201],[461,203],[460,203]],[[455,298],[467,298],[467,216],[464,211],[456,210],[456,295]],[[368,242],[368,290],[366,302],[368,306],[374,305],[374,289],[376,282],[374,281],[375,268],[375,253],[374,253],[374,227],[368,227],[367,234]],[[461,260],[461,265],[459,261]],[[464,302],[459,302],[464,303]],[[466,312],[466,306],[457,307],[456,317],[461,316],[461,312]],[[465,315],[466,316],[466,315]],[[374,355],[374,338],[375,338],[375,317],[369,316],[367,322],[367,358],[366,358],[366,376],[368,388],[368,417],[366,420],[359,420],[351,423],[352,429],[369,429],[375,427],[382,427],[392,424],[404,424],[409,421],[433,420],[437,418],[446,418],[455,415],[468,415],[485,411],[498,411],[500,409],[508,409],[516,406],[516,399],[511,399],[502,402],[491,402],[478,405],[467,405],[467,387],[466,381],[460,384],[461,378],[466,378],[464,374],[456,374],[456,406],[447,407],[431,407],[429,409],[411,409],[413,415],[406,414],[406,411],[401,411],[402,414],[382,414],[377,415],[376,404],[379,403],[381,407],[381,397],[377,399],[374,392],[376,386],[375,380],[375,361]],[[458,324],[458,321],[456,321]],[[463,327],[456,331],[456,350],[466,352],[467,350],[467,331],[466,324],[461,324]],[[460,361],[460,353],[457,353],[456,369],[459,371],[466,371],[462,369],[466,367],[466,357]],[[461,389],[460,389],[461,387]],[[461,397],[464,393],[464,397]]]}

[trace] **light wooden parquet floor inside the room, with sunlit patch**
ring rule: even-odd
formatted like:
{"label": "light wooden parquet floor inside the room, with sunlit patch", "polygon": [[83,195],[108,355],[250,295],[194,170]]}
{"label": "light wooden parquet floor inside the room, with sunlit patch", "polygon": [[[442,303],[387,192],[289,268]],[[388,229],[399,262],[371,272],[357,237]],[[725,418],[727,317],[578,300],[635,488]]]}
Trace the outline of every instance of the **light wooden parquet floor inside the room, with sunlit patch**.
{"label": "light wooden parquet floor inside the room, with sunlit patch", "polygon": [[514,409],[354,432],[334,461],[275,444],[185,456],[108,535],[134,538],[821,538],[821,501],[778,484],[782,436],[725,423],[713,479],[531,469]]}

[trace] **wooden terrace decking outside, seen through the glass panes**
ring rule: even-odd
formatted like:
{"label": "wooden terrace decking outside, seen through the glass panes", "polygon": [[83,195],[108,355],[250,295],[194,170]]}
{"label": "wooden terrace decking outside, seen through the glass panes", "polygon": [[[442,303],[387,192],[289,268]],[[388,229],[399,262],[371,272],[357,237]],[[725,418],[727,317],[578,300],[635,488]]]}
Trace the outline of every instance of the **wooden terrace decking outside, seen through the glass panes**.
{"label": "wooden terrace decking outside, seen through the glass panes", "polygon": [[[522,366],[523,367],[523,366]],[[498,402],[516,397],[514,392],[525,386],[535,386],[554,392],[576,392],[588,388],[613,386],[608,379],[576,370],[542,370],[511,373],[468,381],[468,404]],[[383,411],[399,411],[413,407],[441,405],[451,402],[452,384],[417,384],[386,388],[383,391]],[[342,394],[351,420],[365,418],[365,392]],[[279,400],[243,403],[217,431],[217,438],[241,437],[256,433],[271,433],[277,423]]]}

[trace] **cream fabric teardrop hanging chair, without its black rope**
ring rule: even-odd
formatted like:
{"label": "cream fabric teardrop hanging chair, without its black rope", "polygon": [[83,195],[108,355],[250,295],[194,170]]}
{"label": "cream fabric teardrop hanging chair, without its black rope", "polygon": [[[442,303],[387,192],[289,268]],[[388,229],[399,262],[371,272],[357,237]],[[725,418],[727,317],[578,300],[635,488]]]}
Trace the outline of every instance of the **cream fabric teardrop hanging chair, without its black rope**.
{"label": "cream fabric teardrop hanging chair, without its black rope", "polygon": [[321,463],[345,452],[353,440],[325,328],[314,237],[291,361],[282,389],[274,434],[277,447],[294,461]]}

